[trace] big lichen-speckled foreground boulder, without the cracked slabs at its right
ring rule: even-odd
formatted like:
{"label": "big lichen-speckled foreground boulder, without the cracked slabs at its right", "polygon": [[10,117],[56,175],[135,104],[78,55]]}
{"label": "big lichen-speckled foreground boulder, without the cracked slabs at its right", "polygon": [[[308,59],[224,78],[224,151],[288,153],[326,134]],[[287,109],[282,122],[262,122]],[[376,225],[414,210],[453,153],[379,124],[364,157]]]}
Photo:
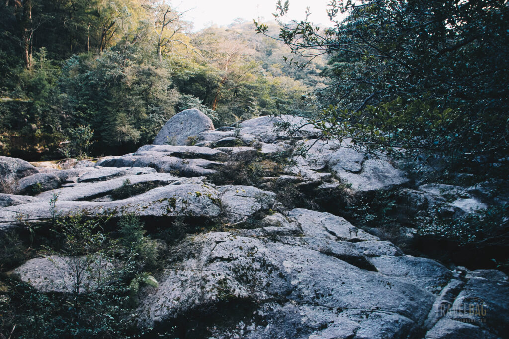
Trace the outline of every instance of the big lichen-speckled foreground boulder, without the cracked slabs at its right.
{"label": "big lichen-speckled foreground boulder, without the cracked slabs at its right", "polygon": [[205,320],[209,336],[376,338],[418,333],[435,296],[409,281],[377,273],[357,248],[357,242],[373,243],[376,237],[357,232],[342,218],[303,209],[292,211],[287,220],[277,215],[263,226],[260,232],[190,236],[172,249],[167,269],[157,277],[159,288],[143,292],[139,325],[157,329],[196,312],[208,319],[225,314],[230,306],[221,305],[229,302],[243,305],[243,313],[232,314],[228,324]]}

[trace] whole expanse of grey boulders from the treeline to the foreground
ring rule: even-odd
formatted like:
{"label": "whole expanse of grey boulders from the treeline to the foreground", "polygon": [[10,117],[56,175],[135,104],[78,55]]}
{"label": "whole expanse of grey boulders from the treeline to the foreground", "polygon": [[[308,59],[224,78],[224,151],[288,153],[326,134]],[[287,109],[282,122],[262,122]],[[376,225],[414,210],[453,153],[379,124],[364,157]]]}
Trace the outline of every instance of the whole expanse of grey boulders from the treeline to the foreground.
{"label": "whole expanse of grey boulders from the treeline to the foreground", "polygon": [[[302,128],[290,135],[281,126]],[[410,187],[387,160],[320,138],[298,117],[262,116],[214,130],[191,109],[168,120],[153,145],[125,156],[65,169],[0,157],[0,234],[77,212],[130,213],[168,228],[179,218],[197,226],[221,220],[221,228],[204,227],[166,249],[159,287],[143,288],[136,310],[136,326],[151,333],[179,324],[187,337],[506,336],[509,282],[501,271],[407,255],[320,206],[288,208],[273,188],[285,184],[329,199],[339,199],[337,190],[399,188],[413,211],[440,203],[440,213],[455,215],[486,208],[482,192]],[[267,170],[299,147],[305,158],[287,152],[284,171]],[[256,185],[219,183],[218,175],[228,181],[235,164],[253,158],[262,167]],[[46,282],[57,278],[47,260],[19,263],[10,274],[51,292],[55,285]]]}

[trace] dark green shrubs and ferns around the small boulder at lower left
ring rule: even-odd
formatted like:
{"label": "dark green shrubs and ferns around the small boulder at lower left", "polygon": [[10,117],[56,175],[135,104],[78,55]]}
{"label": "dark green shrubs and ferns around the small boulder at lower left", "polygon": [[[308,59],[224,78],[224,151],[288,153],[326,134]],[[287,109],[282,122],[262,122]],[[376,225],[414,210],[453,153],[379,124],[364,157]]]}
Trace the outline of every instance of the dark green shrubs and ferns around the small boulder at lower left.
{"label": "dark green shrubs and ferns around the small boulder at lower left", "polygon": [[[0,275],[0,337],[9,337],[13,328],[12,337],[21,338],[120,338],[138,333],[132,307],[141,285],[158,285],[152,273],[143,271],[154,266],[156,242],[145,235],[143,223],[132,214],[122,217],[118,226],[121,237],[114,239],[104,233],[103,220],[90,220],[83,214],[56,218],[53,231],[58,241],[54,248],[46,247],[45,254],[64,261],[65,267],[55,268],[70,272],[72,290],[42,293]],[[5,249],[23,249],[15,237],[0,241]],[[18,260],[9,253],[5,257]],[[113,263],[107,268],[108,278],[102,280],[99,277],[105,271],[97,272],[103,269],[97,265],[101,259]],[[83,283],[84,272],[97,279],[97,288]]]}

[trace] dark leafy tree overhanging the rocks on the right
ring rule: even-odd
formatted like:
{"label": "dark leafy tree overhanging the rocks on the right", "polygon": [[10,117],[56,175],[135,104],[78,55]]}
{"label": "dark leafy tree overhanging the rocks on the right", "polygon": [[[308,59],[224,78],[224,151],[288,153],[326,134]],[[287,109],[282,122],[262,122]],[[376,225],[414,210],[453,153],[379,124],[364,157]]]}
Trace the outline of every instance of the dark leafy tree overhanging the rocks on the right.
{"label": "dark leafy tree overhanging the rocks on the right", "polygon": [[[275,17],[289,6],[279,1]],[[326,136],[389,156],[438,157],[449,172],[506,177],[506,1],[333,0],[328,14],[329,28],[280,21],[275,37],[293,55],[330,57],[323,74],[332,83],[314,114]],[[270,35],[269,25],[255,25]]]}

